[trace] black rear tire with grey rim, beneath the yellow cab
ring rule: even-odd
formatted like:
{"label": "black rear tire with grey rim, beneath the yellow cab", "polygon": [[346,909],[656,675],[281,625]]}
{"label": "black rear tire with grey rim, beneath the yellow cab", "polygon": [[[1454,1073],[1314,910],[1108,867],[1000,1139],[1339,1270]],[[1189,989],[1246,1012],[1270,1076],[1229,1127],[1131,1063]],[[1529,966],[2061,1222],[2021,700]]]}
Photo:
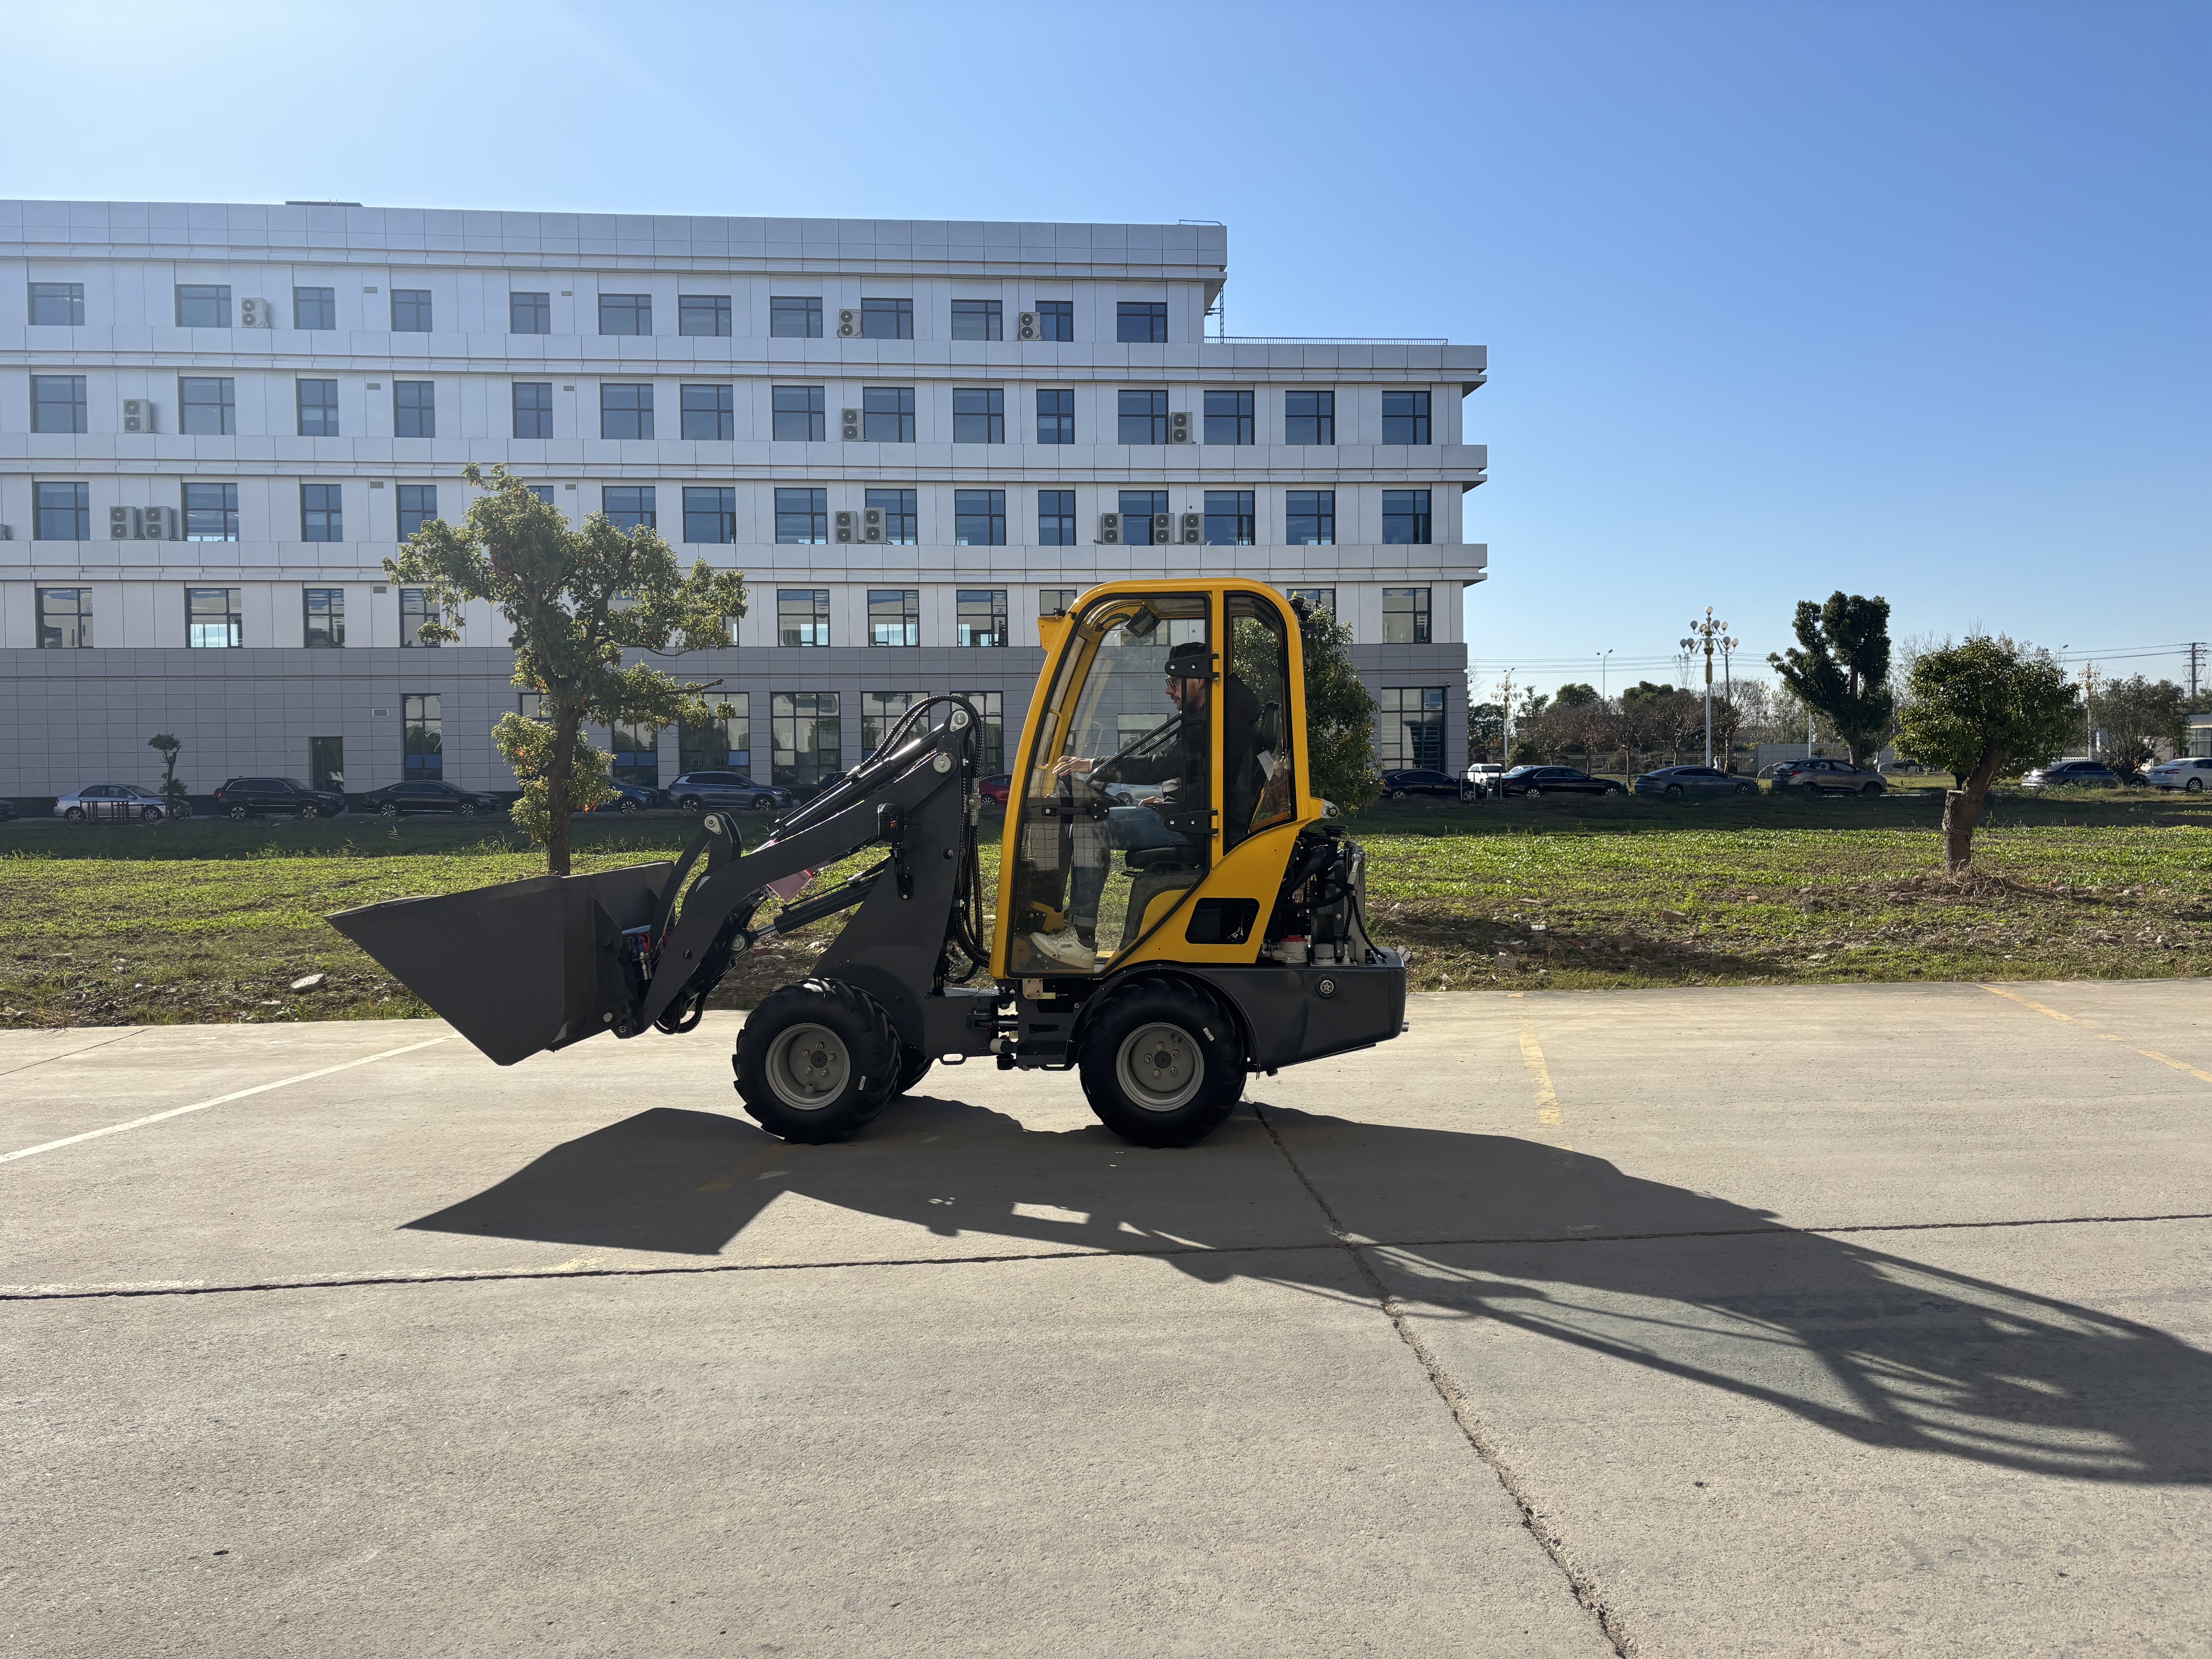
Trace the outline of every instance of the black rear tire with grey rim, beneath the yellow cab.
{"label": "black rear tire with grey rim, beneath the yellow cab", "polygon": [[1133,1146],[1197,1146],[1234,1110],[1243,1037],[1208,998],[1181,984],[1115,991],[1084,1031],[1084,1097]]}

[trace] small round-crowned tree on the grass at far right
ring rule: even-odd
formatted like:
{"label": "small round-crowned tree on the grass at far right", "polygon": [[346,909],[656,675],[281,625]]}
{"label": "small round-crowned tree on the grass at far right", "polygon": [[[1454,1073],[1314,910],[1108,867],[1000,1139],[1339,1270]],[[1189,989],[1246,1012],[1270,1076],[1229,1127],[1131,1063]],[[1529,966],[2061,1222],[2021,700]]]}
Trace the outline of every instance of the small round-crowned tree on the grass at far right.
{"label": "small round-crowned tree on the grass at far right", "polygon": [[2081,695],[2048,650],[1989,635],[1924,653],[1909,692],[1902,745],[1922,765],[1964,779],[1942,801],[1942,865],[1964,876],[1989,785],[2064,754],[2081,730]]}

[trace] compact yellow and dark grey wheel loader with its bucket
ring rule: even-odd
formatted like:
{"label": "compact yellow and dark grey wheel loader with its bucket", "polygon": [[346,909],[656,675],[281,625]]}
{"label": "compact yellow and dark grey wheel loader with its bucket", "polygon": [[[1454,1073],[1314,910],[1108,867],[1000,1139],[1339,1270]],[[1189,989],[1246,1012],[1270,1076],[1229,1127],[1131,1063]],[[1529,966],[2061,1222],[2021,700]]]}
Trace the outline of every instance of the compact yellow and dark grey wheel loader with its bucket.
{"label": "compact yellow and dark grey wheel loader with its bucket", "polygon": [[[1259,582],[1115,582],[1046,619],[982,914],[978,717],[907,712],[745,849],[712,812],[675,863],[338,911],[332,927],[502,1066],[602,1031],[699,1024],[730,964],[852,909],[754,1009],[737,1093],[836,1141],[936,1064],[1079,1071],[1139,1146],[1192,1146],[1254,1071],[1405,1029],[1405,960],[1367,938],[1363,854],[1314,796],[1305,664]],[[880,849],[827,891],[810,872]],[[779,900],[776,894],[790,894]]]}

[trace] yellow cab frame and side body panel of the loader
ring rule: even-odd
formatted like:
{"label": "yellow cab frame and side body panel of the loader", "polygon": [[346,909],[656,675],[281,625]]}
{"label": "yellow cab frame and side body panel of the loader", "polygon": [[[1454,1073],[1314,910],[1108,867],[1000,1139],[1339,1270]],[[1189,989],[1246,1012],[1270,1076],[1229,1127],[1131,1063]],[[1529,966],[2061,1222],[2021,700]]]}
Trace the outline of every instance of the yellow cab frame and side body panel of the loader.
{"label": "yellow cab frame and side body panel of the loader", "polygon": [[[1290,653],[1287,684],[1283,688],[1283,721],[1285,739],[1292,754],[1292,783],[1296,790],[1292,816],[1283,823],[1270,825],[1248,841],[1239,843],[1232,852],[1221,852],[1221,812],[1214,814],[1212,849],[1208,858],[1206,876],[1194,885],[1175,894],[1161,894],[1152,900],[1146,914],[1146,936],[1126,953],[1115,958],[1110,964],[1102,964],[1104,971],[1119,971],[1133,962],[1254,962],[1259,960],[1259,949],[1265,933],[1267,911],[1274,905],[1276,894],[1283,887],[1283,872],[1290,867],[1290,849],[1298,838],[1298,832],[1318,823],[1323,814],[1323,803],[1312,790],[1312,776],[1307,772],[1305,752],[1305,644],[1298,637],[1296,613],[1290,608],[1290,595],[1265,582],[1250,582],[1243,577],[1208,577],[1208,580],[1172,580],[1164,577],[1157,582],[1106,582],[1102,586],[1088,588],[1071,608],[1066,617],[1048,617],[1040,624],[1040,635],[1044,639],[1044,668],[1037,675],[1037,690],[1029,701],[1029,717],[1022,723],[1022,741],[1013,757],[1011,776],[1013,783],[1006,794],[1006,827],[1000,843],[1000,869],[998,869],[998,929],[991,940],[991,975],[998,980],[1009,978],[1006,953],[1013,933],[1013,883],[1015,883],[1015,847],[1020,847],[1020,836],[1024,827],[1024,810],[1029,807],[1026,783],[1035,770],[1035,757],[1057,754],[1064,726],[1073,719],[1073,708],[1057,710],[1048,708],[1046,699],[1060,684],[1062,668],[1071,655],[1095,655],[1097,644],[1086,641],[1077,619],[1104,599],[1115,599],[1121,595],[1146,597],[1146,595],[1206,595],[1208,602],[1208,624],[1212,639],[1221,641],[1228,637],[1228,599],[1237,593],[1250,593],[1265,599],[1276,611],[1281,611],[1285,622],[1285,644]],[[1088,668],[1088,664],[1082,664]],[[1073,684],[1073,681],[1071,681]],[[1071,699],[1073,701],[1073,699]],[[1223,757],[1223,697],[1208,699],[1208,721],[1210,721],[1210,754],[1214,765],[1212,799],[1223,801],[1221,787],[1221,757]],[[1252,929],[1252,938],[1243,945],[1190,945],[1183,938],[1186,922],[1179,920],[1188,914],[1188,907],[1199,898],[1250,898],[1259,902],[1259,925]]]}

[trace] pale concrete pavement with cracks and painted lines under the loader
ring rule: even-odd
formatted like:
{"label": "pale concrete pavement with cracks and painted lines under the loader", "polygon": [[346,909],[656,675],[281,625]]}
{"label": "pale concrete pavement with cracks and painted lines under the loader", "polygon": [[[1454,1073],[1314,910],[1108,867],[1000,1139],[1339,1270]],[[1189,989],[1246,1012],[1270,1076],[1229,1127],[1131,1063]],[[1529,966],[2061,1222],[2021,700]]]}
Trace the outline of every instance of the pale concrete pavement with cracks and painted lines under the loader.
{"label": "pale concrete pavement with cracks and painted lines under the loader", "polygon": [[2212,984],[1416,998],[1190,1152],[734,1024],[0,1033],[0,1652],[2212,1648]]}

